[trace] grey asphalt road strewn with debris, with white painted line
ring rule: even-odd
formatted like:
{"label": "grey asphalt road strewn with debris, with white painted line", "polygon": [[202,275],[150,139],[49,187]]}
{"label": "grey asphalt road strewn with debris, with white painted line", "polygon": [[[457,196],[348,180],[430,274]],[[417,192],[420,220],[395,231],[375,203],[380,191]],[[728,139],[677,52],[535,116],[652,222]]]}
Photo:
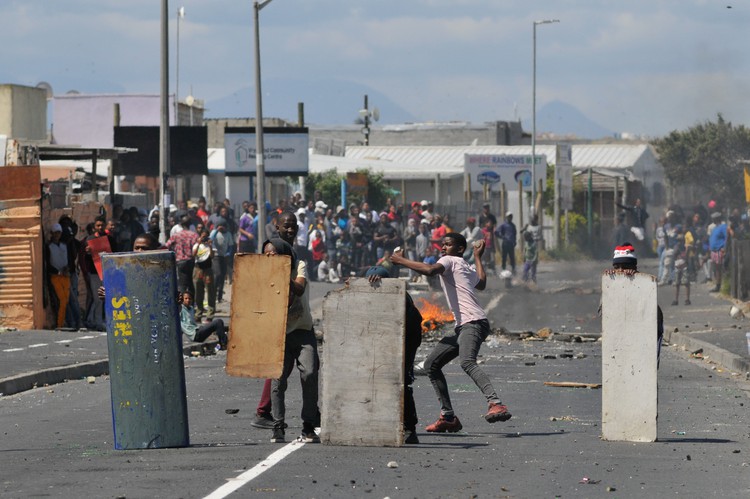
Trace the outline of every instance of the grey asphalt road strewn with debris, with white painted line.
{"label": "grey asphalt road strewn with debris, with white painted line", "polygon": [[[493,281],[483,303],[495,328],[565,326],[595,333],[598,295],[590,290],[598,273],[589,268],[584,274],[578,279],[541,272],[535,291],[506,290]],[[318,286],[313,301],[324,292]],[[0,495],[223,497],[221,487],[231,483],[240,485],[232,497],[750,496],[747,382],[666,348],[659,372],[659,441],[605,442],[599,390],[543,385],[599,382],[600,344],[514,338],[493,337],[481,352],[482,366],[513,419],[486,423],[483,397],[451,364],[446,374],[464,430],[422,430],[439,407],[428,380],[418,377],[421,443],[402,448],[270,443],[270,431],[250,426],[262,381],[227,376],[222,353],[185,360],[188,448],[114,450],[106,376],[4,397]],[[424,344],[418,357],[430,346]],[[290,440],[301,427],[301,394],[293,378],[287,395]],[[266,460],[280,449],[288,454],[271,466]]]}

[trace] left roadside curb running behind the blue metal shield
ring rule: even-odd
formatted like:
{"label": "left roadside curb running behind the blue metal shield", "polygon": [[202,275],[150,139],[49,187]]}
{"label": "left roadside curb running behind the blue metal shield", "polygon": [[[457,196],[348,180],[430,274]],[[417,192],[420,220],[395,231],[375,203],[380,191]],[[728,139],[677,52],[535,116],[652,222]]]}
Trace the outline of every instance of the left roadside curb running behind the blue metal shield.
{"label": "left roadside curb running behind the blue metal shield", "polygon": [[[205,346],[213,348],[217,341],[206,341],[204,343],[186,343],[182,346],[183,355],[191,355],[191,352],[200,351]],[[68,366],[51,367],[16,374],[8,378],[0,379],[0,397],[15,395],[20,392],[39,388],[41,386],[64,383],[68,380],[86,378],[88,376],[103,376],[109,374],[109,359],[92,360],[72,364]]]}

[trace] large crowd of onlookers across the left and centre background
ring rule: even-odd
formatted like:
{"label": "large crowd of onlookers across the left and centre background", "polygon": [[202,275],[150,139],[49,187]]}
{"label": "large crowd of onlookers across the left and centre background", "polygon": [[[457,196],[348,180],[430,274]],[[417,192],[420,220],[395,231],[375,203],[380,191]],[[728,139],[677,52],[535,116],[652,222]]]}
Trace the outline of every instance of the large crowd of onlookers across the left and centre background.
{"label": "large crowd of onlookers across the left and centre background", "polygon": [[[180,201],[171,205],[168,213],[169,232],[162,240],[164,247],[174,251],[177,262],[178,286],[189,291],[193,299],[195,320],[210,323],[216,314],[217,303],[231,286],[234,255],[255,253],[258,250],[258,205],[255,201],[242,203],[241,213],[235,214],[229,199],[207,206],[204,198],[197,203]],[[376,210],[367,201],[351,203],[348,207],[333,206],[322,199],[320,192],[304,200],[297,192],[288,199],[280,199],[276,207],[266,203],[265,233],[268,238],[278,235],[277,225],[283,213],[292,213],[297,221],[293,249],[308,268],[312,281],[339,282],[350,276],[363,276],[372,266],[381,266],[395,277],[399,269],[391,256],[402,248],[411,261],[434,264],[441,254],[442,239],[454,231],[447,214],[435,212],[433,202],[415,201],[404,206],[387,199],[383,208]],[[485,266],[495,270],[495,254],[502,255],[502,269],[516,272],[516,245],[519,231],[513,215],[506,213],[502,223],[485,203],[477,216],[462,223],[460,234],[466,238],[464,258],[474,263],[471,245],[485,242],[482,258]],[[72,329],[104,329],[103,307],[95,299],[101,281],[91,255],[92,240],[106,237],[106,251],[132,251],[141,234],[160,239],[162,224],[158,208],[150,212],[142,208],[124,209],[115,205],[111,217],[100,215],[86,226],[79,236],[77,223],[68,215],[60,217],[49,232],[45,244],[45,265],[48,277],[48,296],[55,313],[55,326]],[[457,232],[459,232],[457,230]],[[536,280],[537,245],[541,230],[536,217],[520,234],[527,240],[524,252],[524,280]],[[499,241],[496,244],[496,240]],[[434,278],[420,276],[408,269],[413,280]],[[79,302],[79,279],[85,282],[85,306]]]}

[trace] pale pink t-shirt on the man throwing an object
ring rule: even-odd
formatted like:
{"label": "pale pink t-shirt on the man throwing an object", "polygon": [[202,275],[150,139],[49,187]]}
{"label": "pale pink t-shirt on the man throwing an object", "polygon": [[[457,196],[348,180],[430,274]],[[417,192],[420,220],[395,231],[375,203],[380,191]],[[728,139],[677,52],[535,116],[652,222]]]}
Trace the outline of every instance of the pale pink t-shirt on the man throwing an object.
{"label": "pale pink t-shirt on the man throwing an object", "polygon": [[487,318],[477,301],[474,288],[479,282],[476,270],[460,256],[443,256],[437,261],[445,268],[440,274],[440,284],[448,300],[456,325]]}

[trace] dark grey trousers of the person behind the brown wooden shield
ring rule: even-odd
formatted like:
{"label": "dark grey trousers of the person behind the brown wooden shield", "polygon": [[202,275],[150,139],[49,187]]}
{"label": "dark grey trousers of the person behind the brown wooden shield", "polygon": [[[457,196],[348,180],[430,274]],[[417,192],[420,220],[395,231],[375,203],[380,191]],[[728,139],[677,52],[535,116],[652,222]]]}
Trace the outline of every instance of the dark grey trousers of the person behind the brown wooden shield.
{"label": "dark grey trousers of the person behind the brown wooden shield", "polygon": [[302,382],[302,421],[315,424],[318,418],[318,341],[312,330],[297,329],[286,335],[284,348],[284,369],[281,377],[271,382],[271,412],[276,424],[284,422],[286,416],[287,378],[292,374],[294,365],[299,370]]}

